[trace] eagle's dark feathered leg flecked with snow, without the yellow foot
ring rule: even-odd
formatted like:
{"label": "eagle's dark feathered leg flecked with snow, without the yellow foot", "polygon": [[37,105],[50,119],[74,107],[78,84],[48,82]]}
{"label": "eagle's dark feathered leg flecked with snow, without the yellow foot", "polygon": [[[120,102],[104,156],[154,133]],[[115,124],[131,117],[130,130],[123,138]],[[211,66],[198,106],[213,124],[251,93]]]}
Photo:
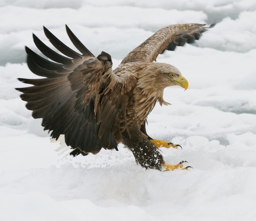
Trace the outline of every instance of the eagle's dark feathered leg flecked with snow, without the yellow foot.
{"label": "eagle's dark feathered leg flecked with snow, without the yellow foot", "polygon": [[130,133],[125,130],[122,135],[122,143],[131,149],[138,164],[146,169],[162,169],[163,156],[139,129],[133,128]]}

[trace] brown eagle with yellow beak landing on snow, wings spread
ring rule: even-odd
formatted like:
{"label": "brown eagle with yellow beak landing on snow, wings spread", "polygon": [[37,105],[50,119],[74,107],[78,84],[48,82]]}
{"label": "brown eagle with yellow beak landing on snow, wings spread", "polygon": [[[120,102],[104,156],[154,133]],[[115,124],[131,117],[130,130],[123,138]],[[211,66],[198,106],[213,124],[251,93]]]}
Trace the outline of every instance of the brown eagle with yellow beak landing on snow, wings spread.
{"label": "brown eagle with yellow beak landing on snow, wings spread", "polygon": [[151,138],[145,125],[157,102],[163,100],[165,87],[179,85],[185,90],[187,80],[173,65],[156,62],[165,50],[198,40],[208,28],[201,24],[166,26],[132,50],[112,69],[112,58],[106,52],[95,57],[66,25],[74,51],[47,28],[44,32],[62,54],[45,45],[36,35],[33,40],[45,59],[25,47],[31,72],[42,78],[19,81],[33,86],[17,88],[27,102],[33,118],[41,118],[44,130],[55,140],[61,137],[72,156],[97,154],[101,148],[116,149],[119,143],[129,148],[144,168],[158,170],[187,169],[182,161],[170,165],[159,147],[180,145]]}

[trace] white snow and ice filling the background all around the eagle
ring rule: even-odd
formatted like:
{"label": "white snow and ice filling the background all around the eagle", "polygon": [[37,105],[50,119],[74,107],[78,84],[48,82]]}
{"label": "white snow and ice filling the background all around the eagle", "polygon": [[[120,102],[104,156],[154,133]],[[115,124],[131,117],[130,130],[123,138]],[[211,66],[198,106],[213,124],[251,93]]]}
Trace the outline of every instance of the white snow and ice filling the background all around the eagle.
{"label": "white snow and ice filling the background all around the eagle", "polygon": [[[254,0],[0,1],[0,220],[256,220],[256,2]],[[175,65],[189,89],[170,87],[148,117],[164,149],[160,172],[131,152],[66,157],[54,149],[14,87],[33,78],[32,33],[46,26],[71,46],[65,24],[93,54],[122,58],[160,28],[217,23],[195,45],[157,59]]]}

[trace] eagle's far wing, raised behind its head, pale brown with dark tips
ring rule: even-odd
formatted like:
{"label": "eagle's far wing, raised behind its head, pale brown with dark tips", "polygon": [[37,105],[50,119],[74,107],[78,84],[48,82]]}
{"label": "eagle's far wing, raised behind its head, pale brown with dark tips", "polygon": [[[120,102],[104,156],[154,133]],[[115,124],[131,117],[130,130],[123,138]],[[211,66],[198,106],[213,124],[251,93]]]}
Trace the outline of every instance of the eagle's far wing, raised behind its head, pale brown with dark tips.
{"label": "eagle's far wing, raised behind its head, pale brown with dark tips", "polygon": [[[215,24],[212,24],[208,28],[214,26]],[[131,51],[121,63],[136,61],[153,62],[159,54],[164,52],[164,50],[173,51],[176,46],[183,46],[186,42],[193,43],[195,40],[198,40],[206,30],[207,27],[200,24],[166,26]]]}

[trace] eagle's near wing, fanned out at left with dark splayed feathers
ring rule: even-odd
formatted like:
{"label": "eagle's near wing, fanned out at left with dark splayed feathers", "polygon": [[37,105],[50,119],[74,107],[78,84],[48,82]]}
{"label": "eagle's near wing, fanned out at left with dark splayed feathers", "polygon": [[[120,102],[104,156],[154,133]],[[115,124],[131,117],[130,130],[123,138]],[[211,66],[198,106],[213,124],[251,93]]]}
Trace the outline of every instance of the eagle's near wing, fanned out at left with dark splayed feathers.
{"label": "eagle's near wing, fanned out at left with dark splayed feathers", "polygon": [[[97,58],[82,45],[67,27],[67,33],[79,54],[44,27],[46,36],[62,56],[33,35],[35,45],[48,58],[44,59],[26,47],[29,69],[41,79],[20,81],[34,86],[18,88],[34,118],[42,118],[45,130],[65,142],[75,153],[97,153],[101,147],[117,149],[111,130],[115,117],[124,105],[125,80],[112,71],[111,56],[102,52]],[[123,107],[123,108],[122,108]]]}

